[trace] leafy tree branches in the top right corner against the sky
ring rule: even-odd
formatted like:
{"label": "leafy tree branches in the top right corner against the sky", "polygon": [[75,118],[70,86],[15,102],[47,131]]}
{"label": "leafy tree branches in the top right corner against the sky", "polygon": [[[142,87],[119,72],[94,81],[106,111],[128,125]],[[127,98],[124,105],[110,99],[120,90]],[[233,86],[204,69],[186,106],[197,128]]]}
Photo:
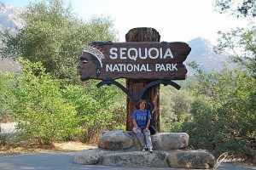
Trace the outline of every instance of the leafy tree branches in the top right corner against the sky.
{"label": "leafy tree branches in the top right corner against the sky", "polygon": [[256,16],[256,2],[254,0],[216,0],[216,9],[219,13],[236,14],[237,17]]}

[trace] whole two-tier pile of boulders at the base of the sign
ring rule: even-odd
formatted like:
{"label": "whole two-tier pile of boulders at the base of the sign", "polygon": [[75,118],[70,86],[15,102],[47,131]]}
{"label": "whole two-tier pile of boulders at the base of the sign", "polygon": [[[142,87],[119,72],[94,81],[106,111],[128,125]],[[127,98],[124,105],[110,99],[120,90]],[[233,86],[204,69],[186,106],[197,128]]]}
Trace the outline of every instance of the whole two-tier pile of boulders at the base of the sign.
{"label": "whole two-tier pile of boulders at the base of the sign", "polygon": [[102,133],[98,148],[80,151],[78,164],[100,164],[117,167],[216,167],[214,156],[206,150],[187,150],[187,133],[156,133],[152,136],[154,152],[138,151],[141,146],[131,131]]}

